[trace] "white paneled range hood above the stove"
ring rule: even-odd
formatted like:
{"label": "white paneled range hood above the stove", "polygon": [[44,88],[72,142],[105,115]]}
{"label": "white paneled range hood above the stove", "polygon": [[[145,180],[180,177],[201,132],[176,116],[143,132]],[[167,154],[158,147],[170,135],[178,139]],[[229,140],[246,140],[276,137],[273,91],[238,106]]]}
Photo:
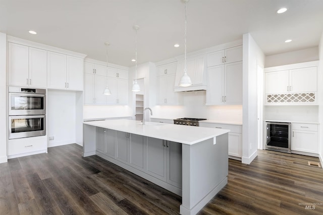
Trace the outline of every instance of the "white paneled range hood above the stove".
{"label": "white paneled range hood above the stove", "polygon": [[177,62],[176,78],[174,92],[188,92],[206,90],[206,56],[198,55],[186,59],[187,75],[192,80],[192,85],[189,87],[179,86],[180,80],[184,73],[184,59]]}

